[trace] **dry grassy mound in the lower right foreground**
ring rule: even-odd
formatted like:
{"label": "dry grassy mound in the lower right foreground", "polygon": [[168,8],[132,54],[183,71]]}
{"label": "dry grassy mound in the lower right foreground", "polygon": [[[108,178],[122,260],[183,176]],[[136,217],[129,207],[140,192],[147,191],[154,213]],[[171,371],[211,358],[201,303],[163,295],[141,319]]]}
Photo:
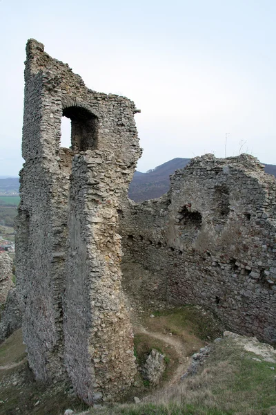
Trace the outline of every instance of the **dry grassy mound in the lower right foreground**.
{"label": "dry grassy mound in the lower right foreground", "polygon": [[275,371],[254,356],[226,338],[213,344],[199,374],[157,392],[147,403],[90,409],[90,414],[275,415]]}

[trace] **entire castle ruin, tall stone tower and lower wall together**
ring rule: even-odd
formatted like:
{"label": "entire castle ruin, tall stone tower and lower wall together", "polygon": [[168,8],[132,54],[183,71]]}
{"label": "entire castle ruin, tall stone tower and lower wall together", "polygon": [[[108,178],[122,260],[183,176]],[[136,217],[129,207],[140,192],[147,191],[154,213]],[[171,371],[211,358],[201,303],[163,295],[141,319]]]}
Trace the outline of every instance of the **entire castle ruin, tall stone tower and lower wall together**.
{"label": "entire castle ruin, tall stone tower and lower wall together", "polygon": [[[229,329],[275,342],[276,183],[257,159],[195,158],[168,194],[137,204],[127,196],[141,156],[135,104],[87,89],[34,39],[25,82],[16,261],[36,378],[69,376],[88,404],[132,384],[121,241],[124,263],[147,270],[132,295],[201,304]],[[131,287],[135,273],[124,278]]]}

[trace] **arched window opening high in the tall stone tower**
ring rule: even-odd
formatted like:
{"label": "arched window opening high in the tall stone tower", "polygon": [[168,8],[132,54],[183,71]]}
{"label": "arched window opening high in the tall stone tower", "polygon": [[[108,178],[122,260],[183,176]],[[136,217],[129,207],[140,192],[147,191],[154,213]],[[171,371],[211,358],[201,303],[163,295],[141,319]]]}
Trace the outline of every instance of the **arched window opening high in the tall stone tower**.
{"label": "arched window opening high in the tall stone tower", "polygon": [[[71,120],[70,146],[68,134],[68,121]],[[96,148],[98,118],[90,113],[87,109],[81,107],[68,107],[63,109],[63,118],[61,119],[61,143],[64,147],[71,147],[73,151],[86,151]],[[64,138],[63,138],[64,135]]]}

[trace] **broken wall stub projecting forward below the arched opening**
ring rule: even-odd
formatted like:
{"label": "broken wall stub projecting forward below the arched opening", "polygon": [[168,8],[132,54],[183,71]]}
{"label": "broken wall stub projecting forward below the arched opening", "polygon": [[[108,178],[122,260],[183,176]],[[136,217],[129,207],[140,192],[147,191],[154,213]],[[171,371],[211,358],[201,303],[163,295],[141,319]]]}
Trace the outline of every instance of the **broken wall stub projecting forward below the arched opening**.
{"label": "broken wall stub projecting forward below the arched opening", "polygon": [[119,198],[128,187],[127,166],[116,162],[110,151],[86,151],[75,156],[72,176],[66,367],[87,403],[114,400],[125,393],[136,373],[117,233]]}

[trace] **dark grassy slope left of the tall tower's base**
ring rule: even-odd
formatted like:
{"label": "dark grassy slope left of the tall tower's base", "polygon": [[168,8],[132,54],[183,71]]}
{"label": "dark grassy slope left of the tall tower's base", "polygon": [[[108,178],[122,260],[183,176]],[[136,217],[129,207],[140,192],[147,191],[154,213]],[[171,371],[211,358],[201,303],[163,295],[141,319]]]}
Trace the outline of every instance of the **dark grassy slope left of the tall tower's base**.
{"label": "dark grassy slope left of the tall tower's base", "polygon": [[25,349],[21,330],[0,345],[0,415],[63,415],[68,408],[76,413],[87,409],[65,382],[36,382],[24,359]]}

